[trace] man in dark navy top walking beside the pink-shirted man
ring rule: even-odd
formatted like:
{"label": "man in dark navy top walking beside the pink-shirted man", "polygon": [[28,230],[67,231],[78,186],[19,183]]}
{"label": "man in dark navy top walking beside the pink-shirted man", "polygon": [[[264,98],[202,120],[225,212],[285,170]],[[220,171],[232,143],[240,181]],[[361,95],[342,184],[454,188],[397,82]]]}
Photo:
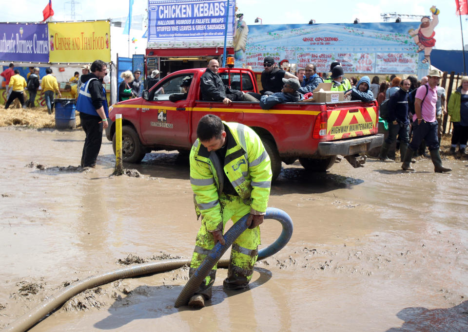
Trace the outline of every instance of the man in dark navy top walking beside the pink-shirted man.
{"label": "man in dark navy top walking beside the pink-shirted man", "polygon": [[396,140],[396,135],[400,135],[401,161],[405,160],[409,144],[408,90],[410,86],[409,79],[402,80],[400,90],[393,93],[388,101],[389,118],[385,120],[389,123],[389,136],[380,149],[379,159],[382,161],[390,161],[387,154],[391,144]]}

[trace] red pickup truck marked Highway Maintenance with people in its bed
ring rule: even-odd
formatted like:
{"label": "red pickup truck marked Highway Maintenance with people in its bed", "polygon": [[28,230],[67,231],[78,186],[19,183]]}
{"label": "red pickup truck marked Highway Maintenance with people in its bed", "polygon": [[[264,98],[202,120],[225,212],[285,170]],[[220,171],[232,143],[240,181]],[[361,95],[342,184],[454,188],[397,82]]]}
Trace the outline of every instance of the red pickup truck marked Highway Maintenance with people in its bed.
{"label": "red pickup truck marked Highway Maintenance with people in its bed", "polygon": [[[278,104],[262,110],[259,103],[201,100],[200,77],[206,68],[172,73],[159,81],[142,97],[110,107],[107,139],[115,151],[115,117],[122,114],[123,161],[140,162],[153,150],[188,152],[196,140],[196,127],[205,114],[216,114],[224,121],[240,122],[261,137],[272,160],[273,179],[281,171],[281,162],[301,165],[312,171],[330,168],[337,155],[352,166],[366,161],[364,155],[379,147],[383,135],[377,134],[377,102],[344,101],[332,103],[297,102]],[[232,89],[257,92],[255,75],[248,69],[219,68],[221,78]],[[185,99],[172,102],[169,96],[181,92],[181,83],[192,78]]]}

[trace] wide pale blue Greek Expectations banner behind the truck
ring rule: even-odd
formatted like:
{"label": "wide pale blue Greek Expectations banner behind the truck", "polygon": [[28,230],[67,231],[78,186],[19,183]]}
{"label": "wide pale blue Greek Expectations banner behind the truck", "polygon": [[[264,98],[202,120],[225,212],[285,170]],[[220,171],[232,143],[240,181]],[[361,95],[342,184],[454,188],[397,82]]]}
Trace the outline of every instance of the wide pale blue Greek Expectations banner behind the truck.
{"label": "wide pale blue Greek Expectations banner behind the truck", "polygon": [[314,63],[320,73],[328,72],[331,62],[337,60],[345,73],[416,74],[425,52],[409,33],[420,24],[253,25],[245,52],[235,54],[235,67],[263,71],[263,58],[271,55],[278,64],[286,59],[297,64],[296,68]]}

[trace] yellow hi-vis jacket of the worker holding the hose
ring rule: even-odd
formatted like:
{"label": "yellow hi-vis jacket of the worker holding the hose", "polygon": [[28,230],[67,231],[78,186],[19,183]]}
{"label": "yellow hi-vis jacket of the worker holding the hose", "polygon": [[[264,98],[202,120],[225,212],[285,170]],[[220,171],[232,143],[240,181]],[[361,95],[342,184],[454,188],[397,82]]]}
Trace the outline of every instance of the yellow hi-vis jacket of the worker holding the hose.
{"label": "yellow hi-vis jacket of the worker holding the hose", "polygon": [[223,192],[223,172],[244,203],[256,211],[266,211],[270,195],[272,168],[260,137],[242,124],[224,121],[223,124],[226,134],[233,138],[228,141],[223,166],[215,151],[208,152],[198,139],[190,151],[195,211],[197,217],[202,215],[207,230],[215,230],[222,224],[219,198]]}

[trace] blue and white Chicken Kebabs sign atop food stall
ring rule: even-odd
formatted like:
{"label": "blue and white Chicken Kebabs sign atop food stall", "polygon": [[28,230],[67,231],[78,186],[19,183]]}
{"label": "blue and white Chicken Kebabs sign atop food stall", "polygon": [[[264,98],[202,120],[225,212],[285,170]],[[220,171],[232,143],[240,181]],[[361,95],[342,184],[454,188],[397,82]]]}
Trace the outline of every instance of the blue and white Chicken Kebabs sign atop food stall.
{"label": "blue and white Chicken Kebabs sign atop food stall", "polygon": [[225,0],[149,0],[148,47],[203,47],[232,43],[234,5]]}

